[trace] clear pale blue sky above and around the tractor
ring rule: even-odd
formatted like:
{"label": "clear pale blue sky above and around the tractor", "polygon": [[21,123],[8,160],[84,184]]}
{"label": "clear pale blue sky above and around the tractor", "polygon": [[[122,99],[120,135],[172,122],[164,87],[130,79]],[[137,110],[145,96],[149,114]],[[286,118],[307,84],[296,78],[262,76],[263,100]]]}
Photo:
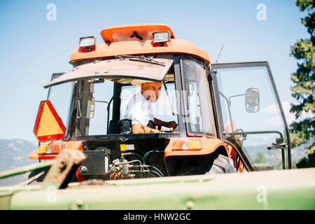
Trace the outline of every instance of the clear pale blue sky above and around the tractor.
{"label": "clear pale blue sky above and around the tractor", "polygon": [[[54,3],[57,20],[46,6]],[[265,4],[267,20],[258,21],[256,6]],[[290,45],[309,38],[293,0],[248,1],[1,1],[0,2],[0,139],[36,141],[34,121],[54,72],[71,69],[69,55],[80,36],[96,36],[109,26],[158,22],[209,52],[219,62],[267,60],[282,102],[290,96],[290,73],[296,60]]]}

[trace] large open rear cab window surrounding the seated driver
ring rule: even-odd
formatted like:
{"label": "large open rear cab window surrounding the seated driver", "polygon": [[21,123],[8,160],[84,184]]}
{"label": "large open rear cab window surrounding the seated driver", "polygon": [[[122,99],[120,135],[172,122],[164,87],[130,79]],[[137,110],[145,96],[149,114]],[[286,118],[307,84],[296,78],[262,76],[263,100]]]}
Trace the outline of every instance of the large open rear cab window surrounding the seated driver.
{"label": "large open rear cab window surrounding the seated driver", "polygon": [[[120,78],[119,80],[92,78],[79,81],[78,104],[80,106],[78,105],[78,125],[75,135],[121,134],[116,131],[118,122],[124,119],[130,99],[134,94],[141,92],[141,85],[131,85],[131,80],[130,78]],[[162,84],[158,102],[151,104],[153,115],[165,122],[174,120],[178,123],[174,66],[167,72],[165,83],[169,94],[167,95],[165,85]],[[162,127],[161,131],[170,132],[172,130]]]}

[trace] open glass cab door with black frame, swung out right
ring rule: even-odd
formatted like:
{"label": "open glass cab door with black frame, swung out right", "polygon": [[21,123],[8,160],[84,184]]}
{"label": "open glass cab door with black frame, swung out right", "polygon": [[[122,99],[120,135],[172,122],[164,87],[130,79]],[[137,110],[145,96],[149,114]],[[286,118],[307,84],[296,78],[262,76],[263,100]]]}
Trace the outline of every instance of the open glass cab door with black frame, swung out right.
{"label": "open glass cab door with black frame, swung out right", "polygon": [[268,62],[211,64],[218,136],[247,171],[290,169],[290,139]]}

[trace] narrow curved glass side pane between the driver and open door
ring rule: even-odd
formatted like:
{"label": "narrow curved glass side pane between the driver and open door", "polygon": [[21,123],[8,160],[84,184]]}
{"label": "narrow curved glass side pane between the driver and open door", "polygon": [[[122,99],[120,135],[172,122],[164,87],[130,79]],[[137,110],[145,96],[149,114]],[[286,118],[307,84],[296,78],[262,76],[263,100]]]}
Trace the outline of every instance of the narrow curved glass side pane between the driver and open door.
{"label": "narrow curved glass side pane between the driver and open door", "polygon": [[215,135],[209,83],[204,66],[194,59],[181,59],[188,133]]}

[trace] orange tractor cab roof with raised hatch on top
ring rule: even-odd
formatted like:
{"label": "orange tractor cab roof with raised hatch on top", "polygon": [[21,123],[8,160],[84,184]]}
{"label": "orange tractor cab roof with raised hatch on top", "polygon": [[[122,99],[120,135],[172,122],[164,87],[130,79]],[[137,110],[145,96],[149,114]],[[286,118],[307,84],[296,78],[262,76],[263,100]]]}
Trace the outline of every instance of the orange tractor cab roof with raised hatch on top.
{"label": "orange tractor cab roof with raised hatch on top", "polygon": [[[132,36],[137,31],[136,36]],[[155,45],[152,41],[152,33],[155,31],[169,31],[170,41],[165,46]],[[207,52],[183,39],[175,38],[172,29],[164,24],[137,24],[108,27],[101,31],[105,43],[95,45],[90,52],[85,52],[79,47],[73,50],[69,62],[77,62],[83,59],[95,59],[101,57],[115,57],[118,55],[144,55],[144,54],[176,54],[186,53],[201,57],[207,62],[212,62]]]}

